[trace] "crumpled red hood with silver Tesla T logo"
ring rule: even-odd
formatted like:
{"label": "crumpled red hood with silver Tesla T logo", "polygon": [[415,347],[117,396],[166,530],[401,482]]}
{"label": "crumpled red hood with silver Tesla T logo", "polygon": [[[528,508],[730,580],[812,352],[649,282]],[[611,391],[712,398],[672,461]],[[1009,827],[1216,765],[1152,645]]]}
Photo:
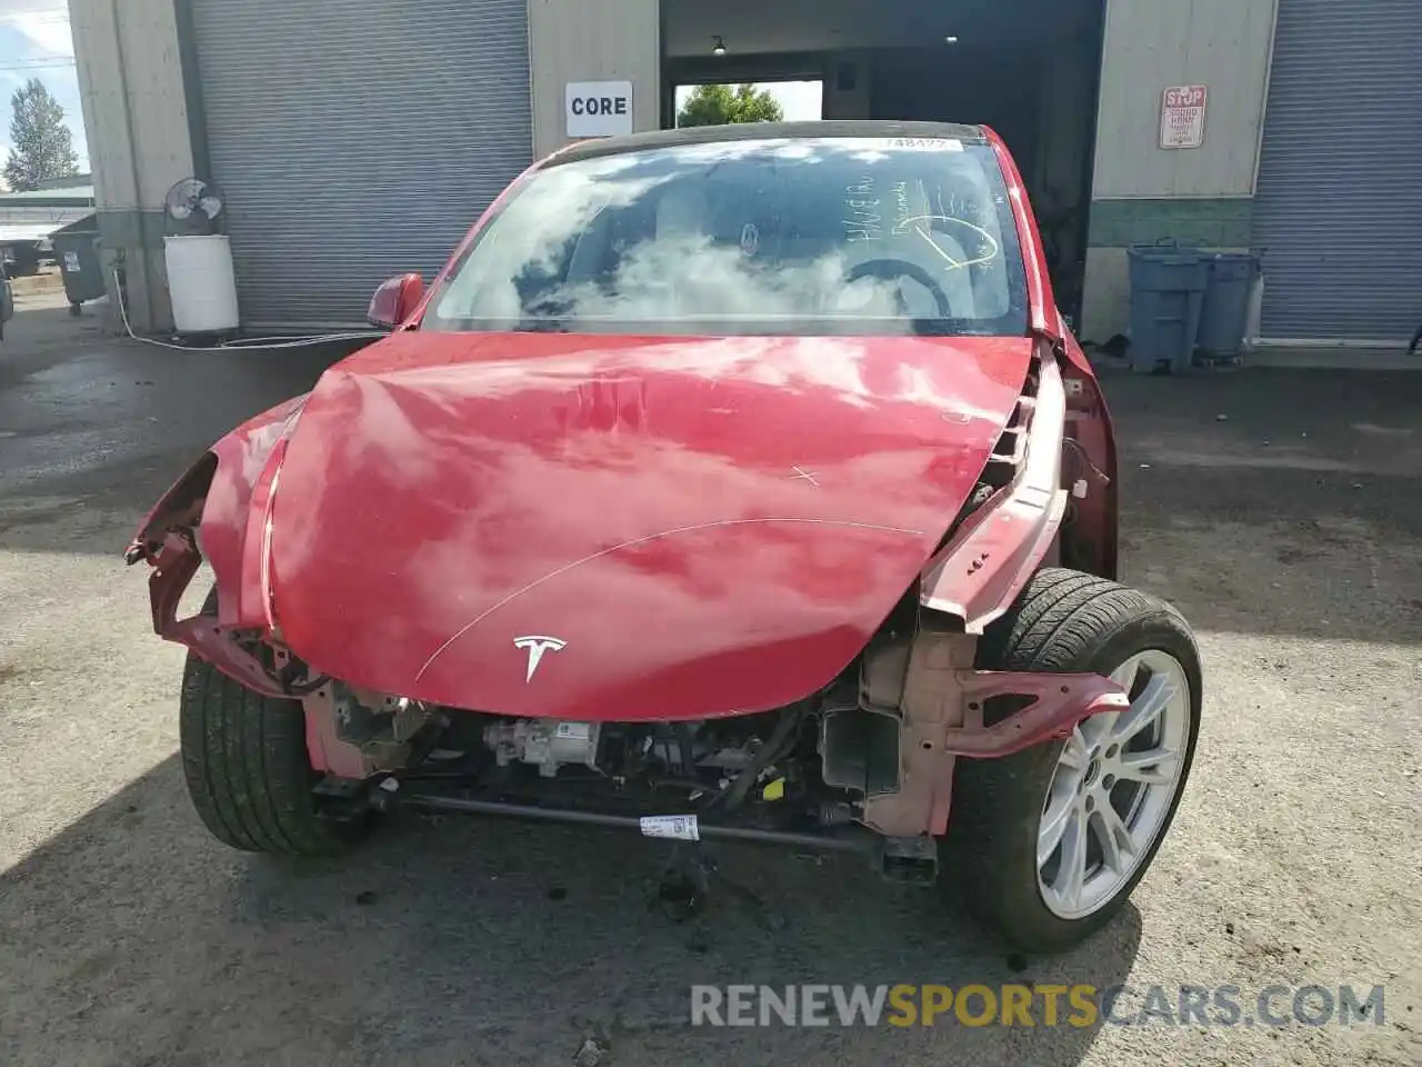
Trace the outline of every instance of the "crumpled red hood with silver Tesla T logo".
{"label": "crumpled red hood with silver Tesla T logo", "polygon": [[331,368],[297,424],[276,619],[323,673],[456,707],[784,706],[914,580],[1031,347],[395,334]]}

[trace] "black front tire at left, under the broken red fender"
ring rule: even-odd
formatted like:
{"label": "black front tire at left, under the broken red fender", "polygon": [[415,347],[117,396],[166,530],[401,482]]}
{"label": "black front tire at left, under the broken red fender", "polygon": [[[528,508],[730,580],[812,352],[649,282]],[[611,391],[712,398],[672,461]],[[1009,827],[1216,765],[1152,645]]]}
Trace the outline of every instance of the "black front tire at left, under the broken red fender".
{"label": "black front tire at left, under the broken red fender", "polygon": [[[203,606],[216,613],[216,590]],[[179,706],[183,777],[208,831],[245,852],[338,855],[368,831],[365,821],[321,818],[320,774],[306,753],[300,701],[253,693],[188,654]]]}

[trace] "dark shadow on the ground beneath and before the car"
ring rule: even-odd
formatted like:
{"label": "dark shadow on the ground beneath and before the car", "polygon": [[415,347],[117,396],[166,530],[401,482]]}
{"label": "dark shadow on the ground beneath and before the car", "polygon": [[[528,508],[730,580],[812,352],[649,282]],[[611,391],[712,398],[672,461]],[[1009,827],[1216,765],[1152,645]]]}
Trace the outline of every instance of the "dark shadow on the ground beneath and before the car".
{"label": "dark shadow on the ground beneath and before the car", "polygon": [[1105,987],[1140,936],[1128,908],[1069,956],[1008,962],[931,891],[757,848],[718,849],[724,883],[677,923],[654,906],[667,855],[616,831],[401,815],[344,861],[246,856],[198,827],[173,757],[0,875],[0,1003],[44,1019],[65,1063],[213,1064],[230,1040],[252,1063],[563,1064],[594,1040],[619,1067],[1075,1064],[1092,1030],[693,1029],[690,986]]}

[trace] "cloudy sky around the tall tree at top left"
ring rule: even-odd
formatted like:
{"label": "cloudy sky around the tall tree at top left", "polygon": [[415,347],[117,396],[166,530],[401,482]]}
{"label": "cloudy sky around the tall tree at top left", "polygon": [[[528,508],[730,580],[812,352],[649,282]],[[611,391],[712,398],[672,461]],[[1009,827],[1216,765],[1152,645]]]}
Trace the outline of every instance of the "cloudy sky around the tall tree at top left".
{"label": "cloudy sky around the tall tree at top left", "polygon": [[0,0],[0,164],[10,158],[10,95],[28,78],[43,81],[60,101],[64,121],[74,134],[80,171],[88,171],[65,0]]}

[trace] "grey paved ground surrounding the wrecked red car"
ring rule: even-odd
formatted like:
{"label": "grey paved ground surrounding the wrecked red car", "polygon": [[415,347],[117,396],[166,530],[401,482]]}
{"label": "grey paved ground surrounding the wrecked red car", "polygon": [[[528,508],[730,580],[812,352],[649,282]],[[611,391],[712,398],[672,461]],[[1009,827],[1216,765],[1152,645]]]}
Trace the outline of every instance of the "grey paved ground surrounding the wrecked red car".
{"label": "grey paved ground surrounding the wrecked red car", "polygon": [[[408,817],[333,864],[213,842],[182,656],[119,552],[330,354],[162,351],[55,303],[0,344],[0,1064],[1422,1063],[1422,374],[1108,378],[1125,578],[1199,629],[1206,718],[1121,920],[1020,960],[853,859],[721,848],[725,891],[678,925],[648,906],[664,854],[616,832]],[[691,983],[762,982],[1385,986],[1385,1017],[687,1024]]]}

